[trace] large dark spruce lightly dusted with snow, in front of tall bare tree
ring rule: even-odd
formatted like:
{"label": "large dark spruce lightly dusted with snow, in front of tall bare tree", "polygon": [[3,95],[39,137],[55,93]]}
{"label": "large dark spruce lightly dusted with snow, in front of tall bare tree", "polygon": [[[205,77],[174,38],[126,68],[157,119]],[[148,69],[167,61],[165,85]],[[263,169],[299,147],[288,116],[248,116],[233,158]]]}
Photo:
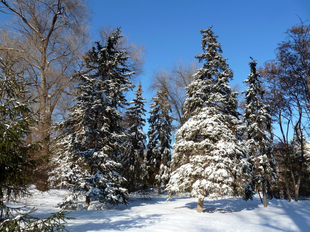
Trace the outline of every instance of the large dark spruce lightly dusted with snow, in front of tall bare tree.
{"label": "large dark spruce lightly dusted with snow, in front of tall bare tree", "polygon": [[88,74],[77,73],[80,81],[68,119],[55,125],[62,135],[55,140],[57,168],[51,181],[68,188],[57,207],[76,206],[78,199],[110,204],[126,204],[128,192],[122,187],[121,154],[127,135],[121,126],[119,110],[128,105],[124,92],[133,88],[129,78],[126,51],[115,49],[120,29],[107,38],[106,45],[96,42],[84,57]]}

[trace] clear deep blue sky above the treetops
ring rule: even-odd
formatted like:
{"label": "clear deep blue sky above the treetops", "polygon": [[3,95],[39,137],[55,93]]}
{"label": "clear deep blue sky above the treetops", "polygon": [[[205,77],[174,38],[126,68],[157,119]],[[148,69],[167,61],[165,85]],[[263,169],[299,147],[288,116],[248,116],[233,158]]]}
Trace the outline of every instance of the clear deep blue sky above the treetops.
{"label": "clear deep blue sky above the treetops", "polygon": [[[309,0],[91,0],[89,4],[93,11],[93,32],[99,26],[121,26],[122,32],[130,35],[131,42],[146,46],[145,72],[138,80],[142,82],[148,102],[152,93],[147,89],[154,70],[169,66],[178,58],[185,62],[193,60],[195,54],[202,52],[200,29],[213,25],[223,57],[228,58],[234,72],[232,84],[236,84],[242,83],[249,74],[250,56],[259,66],[274,59],[277,43],[285,38],[283,32],[300,23],[298,16],[310,20]],[[145,108],[149,110],[148,105]],[[147,128],[144,131],[147,132]]]}

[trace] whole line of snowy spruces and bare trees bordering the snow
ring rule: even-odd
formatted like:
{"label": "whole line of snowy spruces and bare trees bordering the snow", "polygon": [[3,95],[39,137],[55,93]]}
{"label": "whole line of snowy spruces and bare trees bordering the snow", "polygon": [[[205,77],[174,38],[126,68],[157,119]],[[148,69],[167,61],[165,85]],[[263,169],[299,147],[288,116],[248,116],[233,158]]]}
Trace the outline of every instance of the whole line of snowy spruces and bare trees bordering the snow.
{"label": "whole line of snowy spruces and bare trees bordering the snow", "polygon": [[30,184],[67,188],[59,208],[77,207],[80,199],[126,204],[129,194],[151,187],[169,198],[189,192],[198,198],[197,212],[206,195],[251,200],[262,192],[265,207],[268,197],[309,195],[304,22],[286,32],[276,60],[259,68],[249,62],[244,101],[229,85],[233,72],[212,27],[201,30],[201,65],[179,62],[154,73],[145,133],[141,83],[126,99],[142,72],[143,46],[129,44],[120,28],[101,28],[102,41],[89,49],[84,1],[1,3],[2,12],[15,15],[0,40],[4,231],[64,229],[64,211],[40,221],[10,208]]}

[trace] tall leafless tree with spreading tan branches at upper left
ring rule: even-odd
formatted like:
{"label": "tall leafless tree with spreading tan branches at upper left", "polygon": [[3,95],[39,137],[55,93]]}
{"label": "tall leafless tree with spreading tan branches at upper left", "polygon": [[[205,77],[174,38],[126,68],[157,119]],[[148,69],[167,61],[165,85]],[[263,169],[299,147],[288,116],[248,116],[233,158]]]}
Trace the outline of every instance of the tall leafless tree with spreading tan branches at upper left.
{"label": "tall leafless tree with spreading tan branches at upper left", "polygon": [[[11,22],[1,28],[0,53],[14,51],[34,85],[39,139],[50,140],[52,114],[69,93],[78,59],[88,43],[89,11],[82,0],[1,0]],[[48,145],[46,145],[48,150]]]}

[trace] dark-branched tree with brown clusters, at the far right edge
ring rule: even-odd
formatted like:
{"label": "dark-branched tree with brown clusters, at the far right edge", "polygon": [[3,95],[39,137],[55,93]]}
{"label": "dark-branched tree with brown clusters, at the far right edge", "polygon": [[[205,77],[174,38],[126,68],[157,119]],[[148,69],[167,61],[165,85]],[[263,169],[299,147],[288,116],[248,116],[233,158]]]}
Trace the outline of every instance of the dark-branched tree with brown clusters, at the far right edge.
{"label": "dark-branched tree with brown clusters, at the far right edge", "polygon": [[[279,123],[281,135],[276,135],[285,148],[283,153],[286,192],[290,200],[287,173],[293,182],[294,200],[298,201],[299,187],[305,167],[305,135],[310,124],[310,26],[295,25],[286,32],[286,40],[279,43],[276,61],[267,62],[263,75],[269,83],[270,104]],[[290,129],[292,131],[290,131]],[[298,171],[292,171],[288,133],[300,146]]]}

